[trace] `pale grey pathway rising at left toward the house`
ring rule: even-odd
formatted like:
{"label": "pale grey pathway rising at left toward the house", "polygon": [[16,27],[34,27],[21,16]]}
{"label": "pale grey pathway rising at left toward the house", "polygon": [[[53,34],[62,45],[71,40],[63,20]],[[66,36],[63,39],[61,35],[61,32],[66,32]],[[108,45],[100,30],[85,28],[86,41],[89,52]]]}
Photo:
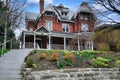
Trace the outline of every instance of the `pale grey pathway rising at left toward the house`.
{"label": "pale grey pathway rising at left toward the house", "polygon": [[0,80],[22,80],[20,74],[24,58],[32,49],[11,50],[0,57]]}

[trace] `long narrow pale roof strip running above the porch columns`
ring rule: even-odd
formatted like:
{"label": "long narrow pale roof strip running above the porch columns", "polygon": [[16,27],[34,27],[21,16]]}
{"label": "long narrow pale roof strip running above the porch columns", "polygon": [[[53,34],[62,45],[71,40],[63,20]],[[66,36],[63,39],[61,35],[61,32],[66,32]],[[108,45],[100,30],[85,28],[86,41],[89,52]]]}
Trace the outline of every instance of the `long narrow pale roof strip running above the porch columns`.
{"label": "long narrow pale roof strip running above the porch columns", "polygon": [[66,37],[66,38],[79,38],[88,39],[93,35],[93,32],[82,32],[82,33],[59,33],[59,32],[49,32],[40,33],[36,31],[23,31],[26,35],[40,35],[40,36],[51,36],[51,37]]}

